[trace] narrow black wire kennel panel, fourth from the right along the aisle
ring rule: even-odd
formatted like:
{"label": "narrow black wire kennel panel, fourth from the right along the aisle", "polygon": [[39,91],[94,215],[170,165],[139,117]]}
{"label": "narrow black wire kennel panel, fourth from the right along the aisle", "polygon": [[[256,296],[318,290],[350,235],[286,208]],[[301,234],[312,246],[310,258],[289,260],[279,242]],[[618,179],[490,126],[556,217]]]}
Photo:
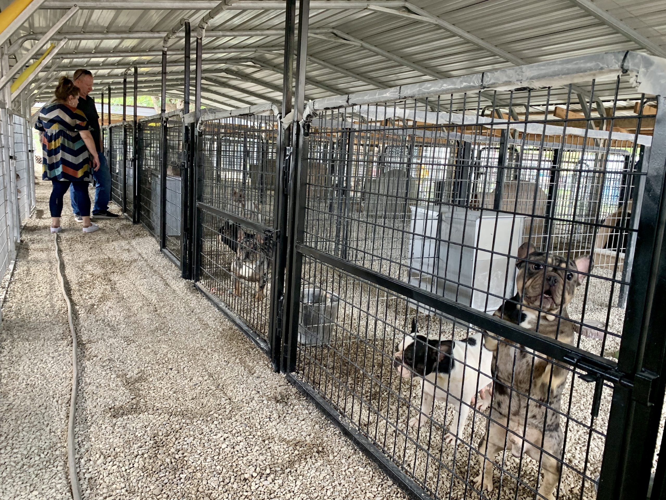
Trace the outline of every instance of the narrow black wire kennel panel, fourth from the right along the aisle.
{"label": "narrow black wire kennel panel, fourth from the right along the aisle", "polygon": [[156,238],[160,233],[162,119],[139,121],[139,221]]}

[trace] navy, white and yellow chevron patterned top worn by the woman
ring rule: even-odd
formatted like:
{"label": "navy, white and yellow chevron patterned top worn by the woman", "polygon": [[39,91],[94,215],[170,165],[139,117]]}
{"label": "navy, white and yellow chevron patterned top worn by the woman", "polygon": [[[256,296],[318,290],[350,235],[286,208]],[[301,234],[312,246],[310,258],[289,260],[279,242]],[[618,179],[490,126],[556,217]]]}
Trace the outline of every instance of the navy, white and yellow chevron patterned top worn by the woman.
{"label": "navy, white and yellow chevron patterned top worn by the woman", "polygon": [[83,111],[62,103],[42,108],[35,129],[42,132],[45,181],[91,181],[91,162],[82,130],[90,130]]}

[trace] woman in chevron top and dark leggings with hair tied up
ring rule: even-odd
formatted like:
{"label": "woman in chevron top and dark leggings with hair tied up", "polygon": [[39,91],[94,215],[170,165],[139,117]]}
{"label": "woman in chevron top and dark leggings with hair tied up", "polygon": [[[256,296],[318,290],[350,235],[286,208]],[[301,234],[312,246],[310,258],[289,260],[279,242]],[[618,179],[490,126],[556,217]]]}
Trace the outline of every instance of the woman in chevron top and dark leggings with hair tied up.
{"label": "woman in chevron top and dark leggings with hair tied up", "polygon": [[63,197],[70,184],[74,187],[74,197],[83,218],[83,232],[93,233],[99,229],[90,221],[88,196],[90,159],[93,159],[93,168],[97,171],[99,158],[86,117],[83,111],[77,109],[78,103],[79,87],[69,78],[61,77],[55,88],[55,101],[41,109],[35,124],[35,129],[41,132],[44,157],[42,179],[53,181],[49,200],[51,233],[59,233],[63,229],[60,227],[60,216]]}

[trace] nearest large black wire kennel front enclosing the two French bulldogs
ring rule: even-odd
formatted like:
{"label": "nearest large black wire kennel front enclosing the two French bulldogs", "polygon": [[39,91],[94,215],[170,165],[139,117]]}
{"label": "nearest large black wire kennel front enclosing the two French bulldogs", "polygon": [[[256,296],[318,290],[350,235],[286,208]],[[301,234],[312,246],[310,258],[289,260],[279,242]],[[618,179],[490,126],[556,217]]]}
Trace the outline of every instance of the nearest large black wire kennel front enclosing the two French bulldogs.
{"label": "nearest large black wire kennel front enclosing the two French bulldogs", "polygon": [[[328,97],[306,107],[292,155],[297,218],[283,368],[412,497],[542,498],[538,471],[546,461],[562,467],[553,489],[559,498],[645,497],[664,393],[658,325],[665,318],[653,301],[666,283],[665,74],[662,59],[609,53]],[[601,96],[611,108],[599,110],[599,117],[553,119],[557,106],[565,113],[579,105],[585,109],[587,102],[578,103],[577,94],[589,102]],[[481,111],[487,100],[491,117]],[[625,112],[635,103],[638,113]],[[654,137],[640,134],[647,121],[654,121]],[[482,149],[496,149],[496,159],[475,154]],[[623,157],[621,168],[613,165],[613,155]],[[378,181],[386,164],[398,165],[402,173],[392,178],[402,180]],[[607,192],[616,188],[621,217],[607,221]],[[583,197],[587,207],[581,215]],[[372,199],[383,203],[366,209]],[[573,201],[571,211],[558,207],[566,200]],[[434,213],[420,226],[413,217],[419,209]],[[489,215],[491,223],[473,226],[478,233],[470,239],[472,213]],[[456,217],[458,225],[452,222]],[[508,238],[498,230],[501,217],[513,221]],[[500,290],[513,293],[515,231],[521,233],[517,243],[533,241],[549,257],[571,259],[594,253],[585,245],[603,231],[615,231],[641,265],[629,269],[627,255],[623,267],[615,259],[598,270],[563,274],[562,279],[579,275],[583,281],[569,304],[573,341],[565,343],[492,317],[464,299],[463,291],[507,299],[490,290],[498,279],[504,283]],[[577,235],[591,238],[582,245]],[[468,276],[465,255],[474,263]],[[429,260],[432,265],[425,265]],[[480,278],[474,270],[482,260],[490,261],[490,270]],[[456,295],[435,293],[440,282]],[[628,287],[625,318],[612,307],[621,287]],[[312,288],[340,299],[326,345],[298,343],[300,293]],[[599,301],[605,307],[593,307]],[[550,313],[561,325],[565,317]],[[406,423],[419,414],[422,400],[392,363],[412,319],[420,333],[440,340],[492,333],[502,349],[531,357],[532,372],[543,361],[565,369],[561,407],[545,403],[561,419],[563,448],[546,447],[530,435],[524,442],[537,461],[526,453],[513,459],[506,449],[499,458],[486,457],[478,443],[488,419],[517,443],[527,430],[522,419],[509,419],[507,428],[492,409],[470,407],[456,443],[461,447],[444,443],[448,405],[436,405],[425,425],[410,429]],[[596,332],[599,339],[580,331]],[[617,347],[615,363],[606,351]],[[474,371],[469,363],[464,367]],[[531,383],[527,389],[504,387],[509,401],[538,407]],[[494,463],[493,493],[472,481],[484,458]]]}

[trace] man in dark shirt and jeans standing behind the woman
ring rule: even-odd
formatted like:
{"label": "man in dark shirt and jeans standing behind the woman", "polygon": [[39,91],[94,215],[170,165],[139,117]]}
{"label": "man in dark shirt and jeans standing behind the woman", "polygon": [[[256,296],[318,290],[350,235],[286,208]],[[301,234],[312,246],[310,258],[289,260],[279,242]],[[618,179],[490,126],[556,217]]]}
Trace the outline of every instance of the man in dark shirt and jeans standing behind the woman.
{"label": "man in dark shirt and jeans standing behind the woman", "polygon": [[[93,172],[95,179],[95,205],[93,205],[93,214],[91,219],[117,219],[118,214],[109,211],[109,200],[111,199],[111,171],[109,163],[102,151],[102,131],[99,126],[99,115],[95,109],[95,99],[90,97],[89,93],[93,90],[93,73],[87,69],[77,69],[74,72],[74,83],[79,87],[79,106],[88,119],[88,125],[91,127],[91,134],[95,140],[97,156],[99,157],[99,170]],[[70,187],[69,197],[72,203],[72,211],[77,222],[83,222],[79,207],[74,201],[74,190]]]}

